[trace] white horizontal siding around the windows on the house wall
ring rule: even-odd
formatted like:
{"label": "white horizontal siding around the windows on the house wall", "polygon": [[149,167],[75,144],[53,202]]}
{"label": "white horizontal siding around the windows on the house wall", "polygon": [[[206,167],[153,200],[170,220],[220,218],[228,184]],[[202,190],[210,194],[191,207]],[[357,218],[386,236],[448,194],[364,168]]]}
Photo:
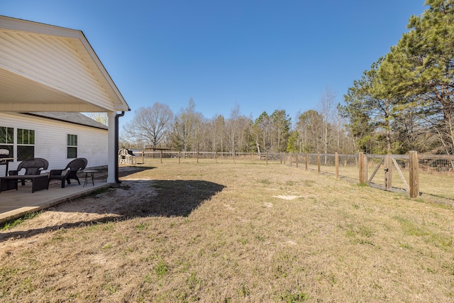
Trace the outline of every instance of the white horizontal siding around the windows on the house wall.
{"label": "white horizontal siding around the windows on the house wall", "polygon": [[[77,157],[87,158],[87,167],[107,165],[107,130],[80,126],[35,116],[0,113],[1,126],[33,129],[35,131],[35,158],[49,161],[49,170],[62,169],[67,159],[67,134],[77,135]],[[16,151],[15,151],[16,154]],[[10,162],[14,170],[18,161]],[[5,165],[0,165],[0,176],[5,175]]]}

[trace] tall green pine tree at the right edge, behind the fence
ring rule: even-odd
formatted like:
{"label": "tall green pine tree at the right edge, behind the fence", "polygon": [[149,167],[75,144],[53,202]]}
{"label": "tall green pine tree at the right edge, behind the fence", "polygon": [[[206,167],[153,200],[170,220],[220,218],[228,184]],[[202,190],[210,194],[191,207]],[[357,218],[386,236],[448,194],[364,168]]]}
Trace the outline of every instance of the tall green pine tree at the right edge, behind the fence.
{"label": "tall green pine tree at the right edge, behind the fence", "polygon": [[454,153],[454,8],[452,0],[427,0],[411,16],[399,43],[380,67],[380,78],[402,109],[410,109],[426,136],[438,138],[435,153]]}

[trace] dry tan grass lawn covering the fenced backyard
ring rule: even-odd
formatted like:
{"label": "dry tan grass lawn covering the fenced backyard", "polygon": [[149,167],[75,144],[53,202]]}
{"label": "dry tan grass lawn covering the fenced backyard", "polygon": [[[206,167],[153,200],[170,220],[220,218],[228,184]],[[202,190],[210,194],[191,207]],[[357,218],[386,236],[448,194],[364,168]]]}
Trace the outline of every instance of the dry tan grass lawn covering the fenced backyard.
{"label": "dry tan grass lawn covering the fenced backyard", "polygon": [[453,209],[284,165],[148,165],[1,231],[0,300],[454,301]]}

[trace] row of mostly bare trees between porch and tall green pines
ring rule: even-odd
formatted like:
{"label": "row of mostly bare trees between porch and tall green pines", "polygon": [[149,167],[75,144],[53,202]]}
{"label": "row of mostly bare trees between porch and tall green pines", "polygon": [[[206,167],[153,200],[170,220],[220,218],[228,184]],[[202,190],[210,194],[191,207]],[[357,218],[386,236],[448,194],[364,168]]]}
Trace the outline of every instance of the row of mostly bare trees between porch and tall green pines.
{"label": "row of mostly bare trees between porch and tall green pines", "polygon": [[[120,143],[127,148],[170,148],[182,152],[226,153],[352,153],[353,144],[338,114],[336,94],[326,88],[319,109],[297,113],[297,121],[284,109],[258,117],[245,116],[236,104],[229,116],[206,119],[196,111],[194,99],[174,114],[156,102],[135,110],[123,126]],[[350,149],[349,149],[350,148]]]}

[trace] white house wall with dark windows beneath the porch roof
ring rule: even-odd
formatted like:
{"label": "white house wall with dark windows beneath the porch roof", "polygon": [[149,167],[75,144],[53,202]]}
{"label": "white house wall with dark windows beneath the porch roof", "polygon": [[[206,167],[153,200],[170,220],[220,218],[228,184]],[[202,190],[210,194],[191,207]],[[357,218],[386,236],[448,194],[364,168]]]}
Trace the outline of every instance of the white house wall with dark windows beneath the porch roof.
{"label": "white house wall with dark windows beneath the porch roof", "polygon": [[[79,113],[0,113],[0,148],[16,158],[9,170],[27,158],[45,158],[49,170],[74,158],[87,158],[87,167],[107,166],[107,135],[107,126]],[[0,165],[4,175],[6,165]]]}

